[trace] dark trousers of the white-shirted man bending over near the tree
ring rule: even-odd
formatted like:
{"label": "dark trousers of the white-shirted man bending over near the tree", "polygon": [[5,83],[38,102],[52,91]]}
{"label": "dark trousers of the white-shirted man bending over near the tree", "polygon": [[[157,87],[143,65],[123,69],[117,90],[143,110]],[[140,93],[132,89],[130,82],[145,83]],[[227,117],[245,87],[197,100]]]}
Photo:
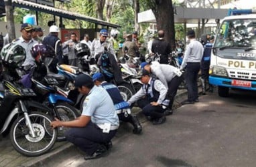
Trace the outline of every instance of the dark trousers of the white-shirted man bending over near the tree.
{"label": "dark trousers of the white-shirted man bending over near the tree", "polygon": [[183,76],[175,76],[171,81],[168,82],[167,99],[170,100],[168,108],[172,110],[172,104],[174,104],[174,98],[177,94],[180,83],[182,83]]}

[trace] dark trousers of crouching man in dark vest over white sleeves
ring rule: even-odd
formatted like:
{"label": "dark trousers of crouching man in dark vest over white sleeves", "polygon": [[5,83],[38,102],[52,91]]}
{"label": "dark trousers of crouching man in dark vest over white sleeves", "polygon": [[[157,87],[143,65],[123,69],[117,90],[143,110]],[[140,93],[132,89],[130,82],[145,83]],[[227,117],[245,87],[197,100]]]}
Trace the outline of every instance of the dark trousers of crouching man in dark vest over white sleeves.
{"label": "dark trousers of crouching man in dark vest over white sleeves", "polygon": [[164,109],[162,106],[151,106],[149,100],[146,98],[137,101],[139,108],[145,116],[151,116],[153,119],[161,118],[164,116]]}

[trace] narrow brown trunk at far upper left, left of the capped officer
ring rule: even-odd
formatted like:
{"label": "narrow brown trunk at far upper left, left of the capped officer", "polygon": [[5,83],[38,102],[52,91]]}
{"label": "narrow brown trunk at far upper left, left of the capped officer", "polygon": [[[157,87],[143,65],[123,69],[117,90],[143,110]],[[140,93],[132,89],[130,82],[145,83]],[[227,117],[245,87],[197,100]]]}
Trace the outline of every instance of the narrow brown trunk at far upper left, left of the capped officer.
{"label": "narrow brown trunk at far upper left, left of the capped officer", "polygon": [[13,41],[13,39],[16,39],[16,35],[13,17],[13,6],[11,0],[5,1],[5,13],[7,18],[7,33],[9,35],[9,41]]}

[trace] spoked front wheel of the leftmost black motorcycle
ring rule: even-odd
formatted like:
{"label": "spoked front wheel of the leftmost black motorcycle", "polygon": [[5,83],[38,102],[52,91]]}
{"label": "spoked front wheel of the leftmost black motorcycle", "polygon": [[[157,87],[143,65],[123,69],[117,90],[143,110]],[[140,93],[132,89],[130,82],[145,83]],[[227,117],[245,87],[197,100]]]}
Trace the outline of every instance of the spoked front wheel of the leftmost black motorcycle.
{"label": "spoked front wheel of the leftmost black motorcycle", "polygon": [[25,116],[19,116],[11,126],[10,140],[13,148],[24,156],[40,156],[48,152],[55,144],[57,129],[52,128],[52,118],[42,112],[28,114],[36,138],[31,136]]}

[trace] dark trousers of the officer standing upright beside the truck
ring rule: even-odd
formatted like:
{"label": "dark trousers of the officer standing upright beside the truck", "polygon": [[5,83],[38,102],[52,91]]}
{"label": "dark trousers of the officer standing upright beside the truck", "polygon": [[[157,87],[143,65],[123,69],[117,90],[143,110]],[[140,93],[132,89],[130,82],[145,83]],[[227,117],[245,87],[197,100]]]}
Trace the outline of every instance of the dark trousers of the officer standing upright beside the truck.
{"label": "dark trousers of the officer standing upright beside the truck", "polygon": [[200,63],[187,63],[186,83],[188,87],[188,101],[193,102],[198,99],[197,78],[200,70]]}

